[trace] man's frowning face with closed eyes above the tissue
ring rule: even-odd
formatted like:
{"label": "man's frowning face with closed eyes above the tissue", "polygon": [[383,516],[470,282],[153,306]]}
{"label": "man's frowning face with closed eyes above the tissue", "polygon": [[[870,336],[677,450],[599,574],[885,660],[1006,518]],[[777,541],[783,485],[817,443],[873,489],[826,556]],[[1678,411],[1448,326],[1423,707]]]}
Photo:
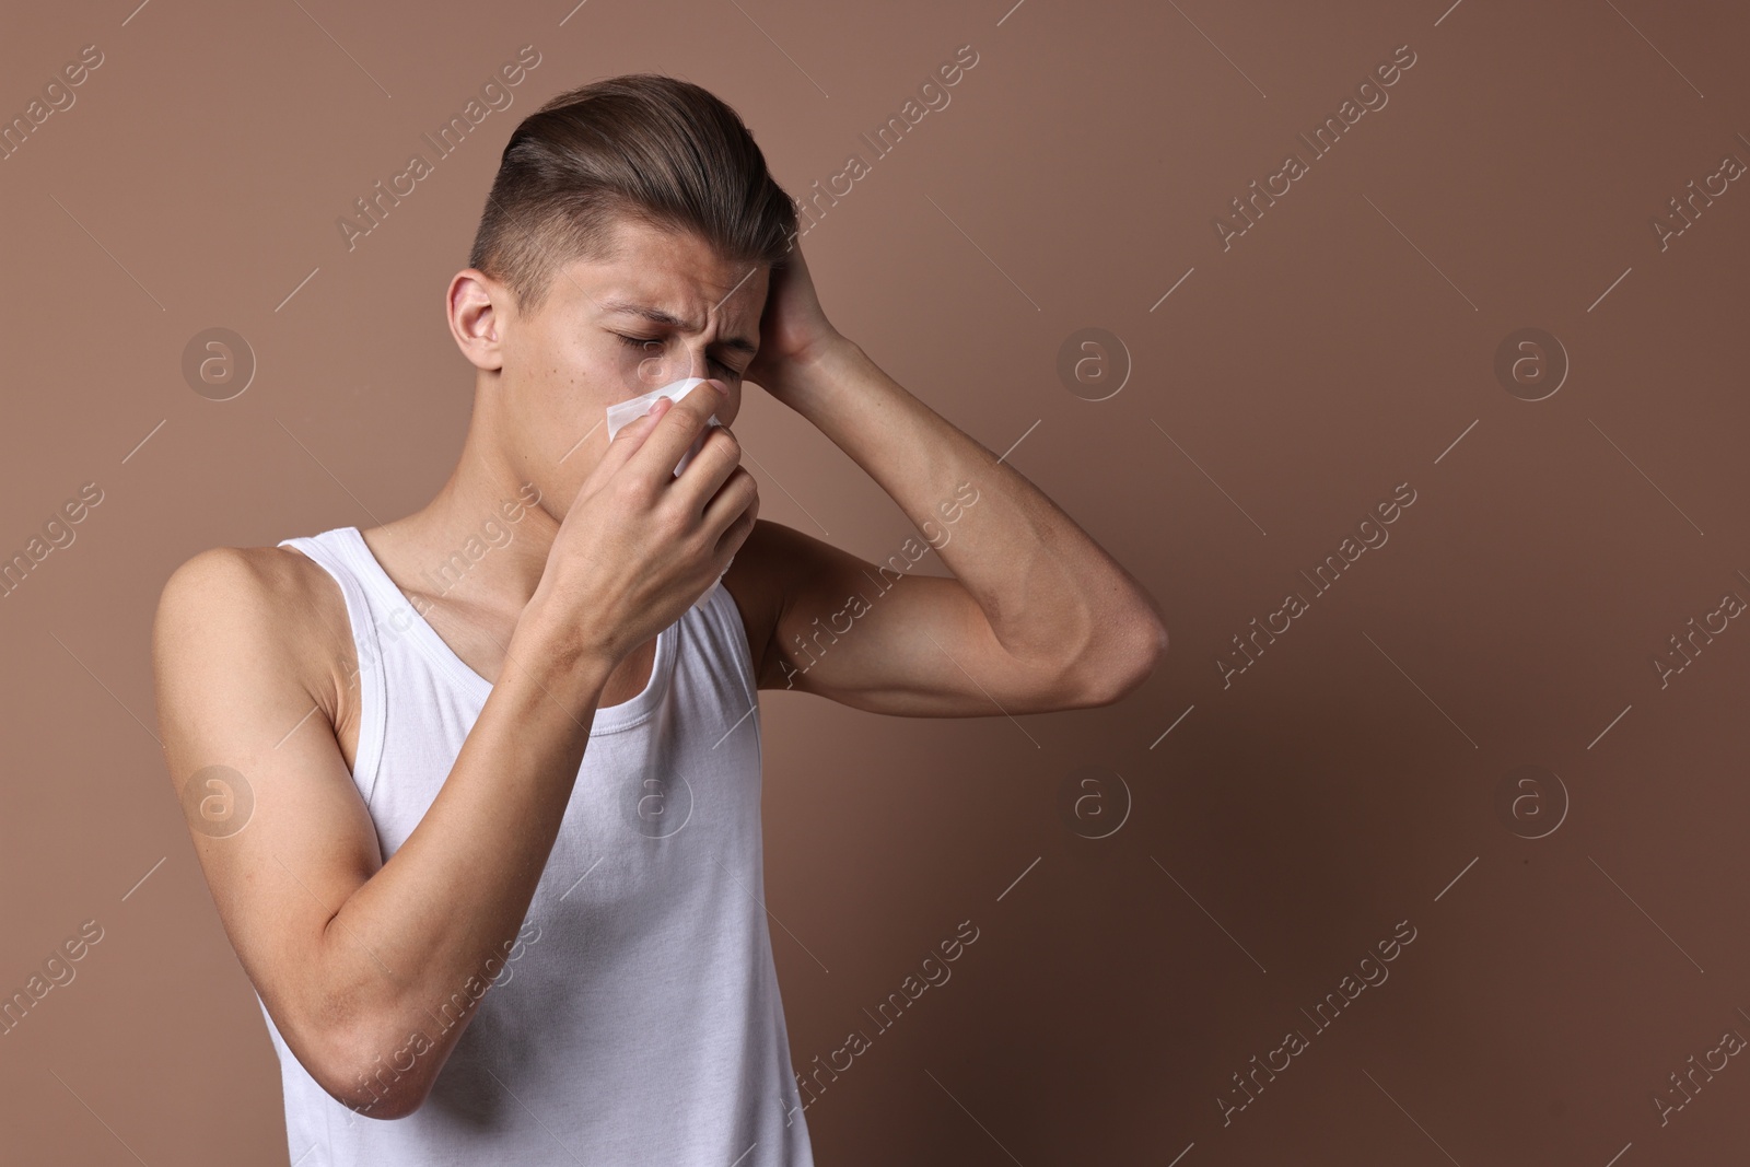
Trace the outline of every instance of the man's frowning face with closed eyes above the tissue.
{"label": "man's frowning face with closed eyes above the tissue", "polygon": [[539,311],[502,332],[499,392],[518,460],[564,506],[607,450],[607,406],[705,376],[728,385],[714,413],[730,425],[760,346],[770,264],[732,264],[634,220],[616,226],[612,255],[560,268]]}

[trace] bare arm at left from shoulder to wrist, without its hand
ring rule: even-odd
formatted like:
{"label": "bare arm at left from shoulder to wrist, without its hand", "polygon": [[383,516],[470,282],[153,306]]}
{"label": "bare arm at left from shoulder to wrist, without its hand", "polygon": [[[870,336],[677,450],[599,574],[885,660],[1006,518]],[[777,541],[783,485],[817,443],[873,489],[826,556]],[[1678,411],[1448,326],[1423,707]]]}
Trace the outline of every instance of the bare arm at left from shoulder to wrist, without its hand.
{"label": "bare arm at left from shoulder to wrist, without its hand", "polygon": [[334,630],[312,616],[317,586],[341,604],[292,551],[222,548],[184,563],[154,625],[158,716],[178,793],[222,765],[254,794],[242,829],[196,817],[191,836],[285,1043],[334,1099],[401,1118],[502,968],[612,665],[567,658],[518,625],[448,780],[385,864],[332,728],[331,677],[346,670],[310,647]]}

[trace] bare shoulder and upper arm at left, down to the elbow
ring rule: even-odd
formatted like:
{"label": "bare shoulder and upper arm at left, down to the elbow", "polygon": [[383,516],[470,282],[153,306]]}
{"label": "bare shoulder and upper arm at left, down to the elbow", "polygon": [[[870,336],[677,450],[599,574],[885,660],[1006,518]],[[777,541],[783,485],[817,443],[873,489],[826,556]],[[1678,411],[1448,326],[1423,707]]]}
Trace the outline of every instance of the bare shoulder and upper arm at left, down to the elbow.
{"label": "bare shoulder and upper arm at left, down to the elbow", "polygon": [[287,1046],[348,1101],[357,1013],[327,980],[326,936],[383,857],[332,712],[318,716],[345,693],[345,598],[326,576],[282,548],[194,555],[164,583],[152,667],[164,770],[219,920]]}

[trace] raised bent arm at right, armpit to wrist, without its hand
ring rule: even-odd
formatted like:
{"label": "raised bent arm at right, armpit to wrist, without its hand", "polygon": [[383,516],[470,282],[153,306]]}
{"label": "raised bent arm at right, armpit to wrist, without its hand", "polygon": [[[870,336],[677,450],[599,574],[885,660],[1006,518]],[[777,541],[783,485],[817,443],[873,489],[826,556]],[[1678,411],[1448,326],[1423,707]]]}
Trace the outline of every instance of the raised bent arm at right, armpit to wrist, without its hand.
{"label": "raised bent arm at right, armpit to wrist, without its hand", "polygon": [[761,520],[747,541],[772,574],[754,604],[770,612],[761,688],[957,717],[1106,705],[1148,679],[1167,647],[1153,598],[1018,471],[844,336],[761,371],[954,572],[900,574],[917,541],[892,565],[868,563]]}

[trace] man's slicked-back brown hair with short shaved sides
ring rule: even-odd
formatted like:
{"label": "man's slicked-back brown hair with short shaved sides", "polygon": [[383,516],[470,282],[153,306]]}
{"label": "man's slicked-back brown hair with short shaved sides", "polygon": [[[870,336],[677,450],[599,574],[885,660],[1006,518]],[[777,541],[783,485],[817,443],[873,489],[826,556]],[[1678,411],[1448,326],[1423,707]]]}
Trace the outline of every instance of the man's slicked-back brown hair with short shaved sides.
{"label": "man's slicked-back brown hair with short shaved sides", "polygon": [[796,203],[733,108],[690,80],[626,73],[516,126],[467,262],[536,313],[562,266],[612,259],[621,219],[691,233],[749,266],[779,266],[796,236]]}

